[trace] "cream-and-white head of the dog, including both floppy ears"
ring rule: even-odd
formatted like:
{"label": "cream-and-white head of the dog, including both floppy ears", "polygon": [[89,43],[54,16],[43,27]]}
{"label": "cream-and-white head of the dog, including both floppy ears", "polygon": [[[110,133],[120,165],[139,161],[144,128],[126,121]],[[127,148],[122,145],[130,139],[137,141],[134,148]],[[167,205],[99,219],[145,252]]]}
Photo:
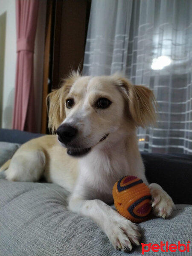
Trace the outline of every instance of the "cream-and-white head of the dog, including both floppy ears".
{"label": "cream-and-white head of the dog, including both floppy ears", "polygon": [[49,128],[72,156],[116,143],[137,126],[155,122],[152,91],[118,75],[73,73],[48,98]]}

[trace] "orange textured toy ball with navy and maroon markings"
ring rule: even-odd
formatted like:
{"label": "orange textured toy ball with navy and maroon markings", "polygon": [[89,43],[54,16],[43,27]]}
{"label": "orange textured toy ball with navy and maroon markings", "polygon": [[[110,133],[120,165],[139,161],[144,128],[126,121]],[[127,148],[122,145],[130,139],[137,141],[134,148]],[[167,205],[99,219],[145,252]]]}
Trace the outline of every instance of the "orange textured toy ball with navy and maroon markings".
{"label": "orange textured toy ball with navy and maroon markings", "polygon": [[151,212],[151,194],[148,186],[136,176],[125,176],[113,186],[117,211],[133,222],[142,222]]}

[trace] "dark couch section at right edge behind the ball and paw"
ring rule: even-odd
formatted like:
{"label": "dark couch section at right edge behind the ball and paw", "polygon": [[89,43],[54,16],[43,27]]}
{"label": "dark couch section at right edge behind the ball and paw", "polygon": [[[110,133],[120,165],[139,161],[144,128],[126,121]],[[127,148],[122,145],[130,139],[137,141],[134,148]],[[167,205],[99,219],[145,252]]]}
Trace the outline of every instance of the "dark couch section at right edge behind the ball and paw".
{"label": "dark couch section at right edge behind the ball and paw", "polygon": [[142,153],[149,183],[158,183],[175,204],[192,204],[192,155]]}

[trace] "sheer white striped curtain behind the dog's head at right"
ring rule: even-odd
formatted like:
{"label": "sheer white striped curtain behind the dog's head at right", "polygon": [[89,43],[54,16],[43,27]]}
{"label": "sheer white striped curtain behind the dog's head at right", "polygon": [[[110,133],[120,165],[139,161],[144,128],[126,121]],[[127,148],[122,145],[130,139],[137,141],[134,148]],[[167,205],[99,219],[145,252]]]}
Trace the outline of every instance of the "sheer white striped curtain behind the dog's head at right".
{"label": "sheer white striped curtain behind the dog's head at right", "polygon": [[83,74],[116,71],[158,102],[140,149],[192,154],[192,0],[92,0]]}

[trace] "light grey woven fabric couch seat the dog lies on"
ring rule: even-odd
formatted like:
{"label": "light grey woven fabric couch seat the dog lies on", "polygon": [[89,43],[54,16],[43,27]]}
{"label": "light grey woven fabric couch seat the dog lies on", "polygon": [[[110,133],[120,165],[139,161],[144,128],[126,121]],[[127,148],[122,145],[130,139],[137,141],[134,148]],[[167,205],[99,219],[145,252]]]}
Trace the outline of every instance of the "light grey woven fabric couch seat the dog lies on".
{"label": "light grey woven fabric couch seat the dog lies on", "polygon": [[[192,228],[192,207],[178,205],[172,218],[153,218],[140,225],[143,243],[186,244]],[[137,247],[132,256],[142,255]],[[157,253],[172,255],[171,252]],[[89,218],[67,210],[67,192],[56,184],[0,179],[0,255],[120,256],[107,236]],[[145,253],[154,256],[154,252]],[[183,256],[182,252],[176,253]]]}

